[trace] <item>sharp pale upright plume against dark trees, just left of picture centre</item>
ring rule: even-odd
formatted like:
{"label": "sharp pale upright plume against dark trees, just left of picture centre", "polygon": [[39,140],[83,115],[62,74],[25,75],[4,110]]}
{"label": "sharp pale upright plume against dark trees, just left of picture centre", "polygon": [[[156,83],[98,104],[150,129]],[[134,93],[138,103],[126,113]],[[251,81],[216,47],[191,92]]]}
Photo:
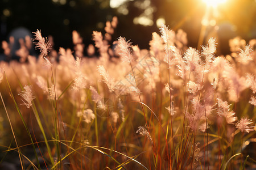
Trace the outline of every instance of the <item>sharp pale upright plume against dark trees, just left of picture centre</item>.
{"label": "sharp pale upright plume against dark trees, just left of picture centre", "polygon": [[131,63],[133,61],[133,56],[131,55],[130,47],[131,42],[130,40],[126,41],[125,37],[118,38],[118,48],[119,54],[121,56],[122,62]]}

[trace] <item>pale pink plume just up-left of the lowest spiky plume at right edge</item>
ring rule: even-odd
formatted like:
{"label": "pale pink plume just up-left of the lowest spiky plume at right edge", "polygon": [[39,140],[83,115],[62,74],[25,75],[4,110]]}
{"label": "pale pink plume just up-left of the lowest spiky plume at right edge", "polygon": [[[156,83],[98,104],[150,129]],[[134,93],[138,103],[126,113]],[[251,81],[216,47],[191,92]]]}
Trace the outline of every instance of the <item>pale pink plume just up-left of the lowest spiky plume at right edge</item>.
{"label": "pale pink plume just up-left of the lowest spiky plume at right edge", "polygon": [[234,117],[236,113],[234,113],[233,111],[230,111],[231,104],[228,105],[228,101],[223,101],[220,98],[217,98],[217,104],[218,104],[218,109],[217,109],[218,116],[220,117],[224,116],[228,124],[234,124],[234,121],[237,120],[237,117]]}

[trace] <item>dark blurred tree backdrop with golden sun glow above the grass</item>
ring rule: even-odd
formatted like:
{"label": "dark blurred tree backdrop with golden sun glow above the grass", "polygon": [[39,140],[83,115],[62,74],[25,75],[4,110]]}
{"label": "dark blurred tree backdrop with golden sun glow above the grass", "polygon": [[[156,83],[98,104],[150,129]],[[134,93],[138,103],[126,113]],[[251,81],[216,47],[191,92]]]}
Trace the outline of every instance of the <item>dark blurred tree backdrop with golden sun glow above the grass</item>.
{"label": "dark blurred tree backdrop with golden sun glow above the grass", "polygon": [[113,40],[125,36],[140,48],[148,48],[151,33],[159,33],[160,23],[174,31],[183,29],[188,46],[193,47],[204,30],[203,40],[216,36],[222,54],[229,53],[230,38],[256,38],[256,0],[227,0],[215,8],[203,0],[1,0],[0,12],[1,41],[18,27],[30,32],[41,29],[44,37],[53,36],[55,49],[73,48],[73,30],[85,45],[93,44],[92,31],[104,33],[105,22],[113,16],[118,17]]}

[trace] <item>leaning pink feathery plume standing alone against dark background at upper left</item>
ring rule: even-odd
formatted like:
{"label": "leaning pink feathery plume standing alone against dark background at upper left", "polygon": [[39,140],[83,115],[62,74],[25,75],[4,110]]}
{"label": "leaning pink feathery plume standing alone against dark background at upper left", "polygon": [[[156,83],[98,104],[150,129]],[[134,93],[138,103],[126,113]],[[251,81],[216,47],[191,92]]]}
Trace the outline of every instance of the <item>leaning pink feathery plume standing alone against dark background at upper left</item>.
{"label": "leaning pink feathery plume standing alone against dark background at upper left", "polygon": [[51,44],[49,43],[49,41],[47,40],[47,38],[42,37],[41,35],[41,30],[38,30],[36,32],[32,32],[34,33],[35,37],[34,39],[32,39],[33,41],[37,41],[37,42],[33,42],[36,46],[36,49],[40,49],[40,53],[42,54],[42,56],[47,56],[49,49],[51,48]]}

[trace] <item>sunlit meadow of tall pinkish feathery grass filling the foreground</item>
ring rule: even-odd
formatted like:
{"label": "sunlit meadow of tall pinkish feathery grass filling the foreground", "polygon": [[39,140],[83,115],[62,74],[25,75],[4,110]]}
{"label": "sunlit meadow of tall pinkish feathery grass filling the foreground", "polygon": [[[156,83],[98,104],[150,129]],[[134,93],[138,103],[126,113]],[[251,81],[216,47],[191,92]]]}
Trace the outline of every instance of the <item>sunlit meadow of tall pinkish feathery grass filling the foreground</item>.
{"label": "sunlit meadow of tall pinkish feathery grass filling the foreground", "polygon": [[0,167],[255,169],[256,40],[216,56],[217,39],[191,48],[162,25],[139,49],[116,26],[58,51],[38,29],[1,61]]}

